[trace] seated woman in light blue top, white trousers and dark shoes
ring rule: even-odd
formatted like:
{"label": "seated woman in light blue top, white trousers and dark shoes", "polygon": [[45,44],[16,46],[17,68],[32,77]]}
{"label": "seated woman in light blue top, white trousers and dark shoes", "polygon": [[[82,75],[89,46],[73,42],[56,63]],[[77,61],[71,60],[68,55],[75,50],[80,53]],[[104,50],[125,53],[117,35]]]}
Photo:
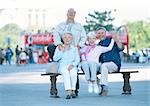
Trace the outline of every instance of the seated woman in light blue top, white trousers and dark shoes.
{"label": "seated woman in light blue top, white trousers and dark shoes", "polygon": [[71,45],[72,34],[66,33],[63,36],[64,45],[58,46],[54,53],[54,61],[59,62],[59,71],[64,77],[66,99],[75,98],[75,89],[77,82],[77,65],[80,62],[78,48]]}

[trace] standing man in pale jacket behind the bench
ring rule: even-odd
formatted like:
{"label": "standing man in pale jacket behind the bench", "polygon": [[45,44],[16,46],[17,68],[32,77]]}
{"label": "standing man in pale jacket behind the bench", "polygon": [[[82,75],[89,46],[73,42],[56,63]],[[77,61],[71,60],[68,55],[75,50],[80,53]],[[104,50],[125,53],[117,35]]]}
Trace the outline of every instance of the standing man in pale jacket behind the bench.
{"label": "standing man in pale jacket behind the bench", "polygon": [[76,11],[70,8],[67,12],[67,21],[60,23],[54,31],[54,44],[62,44],[61,39],[65,33],[71,33],[73,35],[72,45],[79,47],[84,46],[86,41],[86,33],[83,26],[75,22],[74,18]]}

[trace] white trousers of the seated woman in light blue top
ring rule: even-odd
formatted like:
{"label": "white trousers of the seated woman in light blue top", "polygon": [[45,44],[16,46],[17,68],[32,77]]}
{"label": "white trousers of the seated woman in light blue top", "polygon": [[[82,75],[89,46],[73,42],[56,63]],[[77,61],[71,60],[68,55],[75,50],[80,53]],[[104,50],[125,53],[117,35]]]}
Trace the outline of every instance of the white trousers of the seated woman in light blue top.
{"label": "white trousers of the seated woman in light blue top", "polygon": [[65,90],[75,90],[77,83],[77,68],[74,67],[72,70],[68,71],[68,67],[62,67],[61,69]]}

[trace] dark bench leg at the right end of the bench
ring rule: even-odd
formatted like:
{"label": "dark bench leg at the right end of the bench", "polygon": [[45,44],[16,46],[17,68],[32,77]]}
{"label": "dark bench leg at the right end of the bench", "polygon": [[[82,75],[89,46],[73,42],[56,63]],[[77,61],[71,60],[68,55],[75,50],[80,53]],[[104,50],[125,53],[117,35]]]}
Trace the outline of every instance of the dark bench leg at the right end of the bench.
{"label": "dark bench leg at the right end of the bench", "polygon": [[124,79],[123,93],[125,95],[131,95],[131,86],[130,86],[130,73],[122,73]]}

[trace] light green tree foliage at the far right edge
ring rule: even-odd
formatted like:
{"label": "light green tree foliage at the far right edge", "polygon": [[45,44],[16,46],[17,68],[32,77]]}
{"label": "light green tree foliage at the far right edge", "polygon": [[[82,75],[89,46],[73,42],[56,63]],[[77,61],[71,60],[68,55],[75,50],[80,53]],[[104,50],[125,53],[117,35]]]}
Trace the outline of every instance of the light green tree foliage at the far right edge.
{"label": "light green tree foliage at the far right edge", "polygon": [[150,23],[144,21],[128,22],[129,47],[132,50],[150,47]]}

